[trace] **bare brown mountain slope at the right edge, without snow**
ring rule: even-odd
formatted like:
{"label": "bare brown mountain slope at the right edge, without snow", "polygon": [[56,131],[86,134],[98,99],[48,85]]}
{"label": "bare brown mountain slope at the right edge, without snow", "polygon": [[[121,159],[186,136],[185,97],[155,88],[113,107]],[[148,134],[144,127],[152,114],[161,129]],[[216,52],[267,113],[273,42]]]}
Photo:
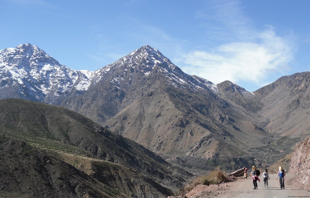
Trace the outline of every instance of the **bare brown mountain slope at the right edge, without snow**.
{"label": "bare brown mountain slope at the right edge, without snow", "polygon": [[263,103],[259,114],[268,120],[266,130],[301,139],[310,135],[310,72],[283,76],[254,94]]}

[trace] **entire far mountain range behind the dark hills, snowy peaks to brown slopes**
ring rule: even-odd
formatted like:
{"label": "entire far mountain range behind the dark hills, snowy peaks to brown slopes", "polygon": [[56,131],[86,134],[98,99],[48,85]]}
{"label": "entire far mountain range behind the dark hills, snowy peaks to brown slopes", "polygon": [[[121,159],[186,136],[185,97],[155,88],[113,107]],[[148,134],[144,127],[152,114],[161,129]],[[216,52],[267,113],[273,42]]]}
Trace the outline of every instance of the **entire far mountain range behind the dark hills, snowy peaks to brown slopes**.
{"label": "entire far mountain range behind the dark hills, snowy peaks to brown slopes", "polygon": [[63,106],[159,154],[236,156],[309,135],[309,72],[250,93],[188,75],[148,45],[92,72],[24,44],[0,51],[0,69],[0,98]]}

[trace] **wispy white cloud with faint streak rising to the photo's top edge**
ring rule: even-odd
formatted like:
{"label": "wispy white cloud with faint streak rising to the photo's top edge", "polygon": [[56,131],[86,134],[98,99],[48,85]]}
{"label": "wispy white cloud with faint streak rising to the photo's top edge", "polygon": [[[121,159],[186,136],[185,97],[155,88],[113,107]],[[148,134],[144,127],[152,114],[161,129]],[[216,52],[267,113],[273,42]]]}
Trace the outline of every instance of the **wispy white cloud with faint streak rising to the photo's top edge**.
{"label": "wispy white cloud with faint streak rising to the photo's top edge", "polygon": [[213,9],[222,31],[234,35],[235,41],[184,53],[177,59],[184,72],[216,84],[230,80],[265,85],[269,75],[288,69],[294,54],[290,36],[277,36],[272,26],[260,31],[253,28],[250,19],[242,15],[238,1],[215,5]]}

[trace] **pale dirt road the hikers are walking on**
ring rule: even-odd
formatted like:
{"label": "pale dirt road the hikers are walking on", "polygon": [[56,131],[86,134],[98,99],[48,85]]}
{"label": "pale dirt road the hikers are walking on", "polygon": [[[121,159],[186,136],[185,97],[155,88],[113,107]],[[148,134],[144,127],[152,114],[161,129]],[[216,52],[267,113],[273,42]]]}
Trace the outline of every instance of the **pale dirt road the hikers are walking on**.
{"label": "pale dirt road the hikers are walking on", "polygon": [[264,187],[263,177],[260,176],[260,182],[257,182],[258,190],[254,188],[252,179],[238,179],[236,182],[227,183],[228,192],[218,195],[218,198],[284,198],[284,197],[310,197],[310,192],[290,185],[290,181],[298,175],[287,174],[285,179],[285,190],[280,189],[279,178],[276,174],[271,174],[268,180],[268,188]]}

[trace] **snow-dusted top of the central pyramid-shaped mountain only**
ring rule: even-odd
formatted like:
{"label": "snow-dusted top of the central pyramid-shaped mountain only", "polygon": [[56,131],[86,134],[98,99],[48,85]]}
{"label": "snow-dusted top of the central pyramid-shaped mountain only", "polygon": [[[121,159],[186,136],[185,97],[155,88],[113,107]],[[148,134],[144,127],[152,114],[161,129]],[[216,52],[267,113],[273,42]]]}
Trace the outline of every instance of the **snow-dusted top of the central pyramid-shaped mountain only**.
{"label": "snow-dusted top of the central pyramid-shaped mountain only", "polygon": [[[128,71],[131,72],[128,73]],[[167,83],[175,87],[195,90],[207,89],[215,94],[218,93],[215,84],[206,79],[184,73],[159,50],[149,45],[144,45],[116,62],[96,71],[95,83],[99,82],[106,73],[114,73],[113,78],[109,75],[112,78],[111,83],[120,88],[123,80],[131,81],[134,75],[148,76],[153,71],[166,76],[169,79]]]}

